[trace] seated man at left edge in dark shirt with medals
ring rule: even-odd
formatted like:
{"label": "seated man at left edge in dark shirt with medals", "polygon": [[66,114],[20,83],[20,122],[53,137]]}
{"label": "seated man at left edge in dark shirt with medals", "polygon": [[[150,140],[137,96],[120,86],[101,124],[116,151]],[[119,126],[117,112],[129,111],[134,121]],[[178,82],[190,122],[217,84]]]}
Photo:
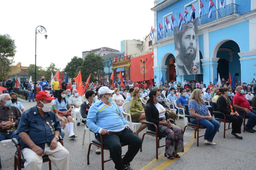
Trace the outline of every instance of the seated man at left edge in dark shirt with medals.
{"label": "seated man at left edge in dark shirt with medals", "polygon": [[12,139],[13,137],[20,140],[20,137],[16,135],[19,124],[18,118],[21,116],[20,109],[15,106],[11,106],[12,100],[8,93],[0,95],[0,103],[0,141]]}

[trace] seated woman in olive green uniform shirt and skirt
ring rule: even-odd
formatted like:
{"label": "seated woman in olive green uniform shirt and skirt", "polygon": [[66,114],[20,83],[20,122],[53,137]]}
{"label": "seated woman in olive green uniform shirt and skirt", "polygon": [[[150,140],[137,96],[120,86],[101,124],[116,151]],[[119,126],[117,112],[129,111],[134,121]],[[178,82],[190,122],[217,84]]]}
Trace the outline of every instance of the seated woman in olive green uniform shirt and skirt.
{"label": "seated woman in olive green uniform shirt and skirt", "polygon": [[145,111],[141,104],[140,97],[142,93],[140,93],[140,89],[134,89],[132,93],[133,98],[130,101],[129,114],[131,114],[132,122],[140,122],[140,128],[134,132],[135,135],[139,136],[140,131],[147,127],[147,124],[143,124],[143,121],[146,121]]}

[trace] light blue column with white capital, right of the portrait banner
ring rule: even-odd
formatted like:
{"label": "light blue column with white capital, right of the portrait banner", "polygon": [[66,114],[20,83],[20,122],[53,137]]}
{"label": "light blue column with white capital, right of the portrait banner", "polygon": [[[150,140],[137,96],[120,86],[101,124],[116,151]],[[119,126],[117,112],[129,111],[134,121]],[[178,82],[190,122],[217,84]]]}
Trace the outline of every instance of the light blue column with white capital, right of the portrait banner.
{"label": "light blue column with white capital, right of the portrait banner", "polygon": [[203,66],[203,82],[208,84],[213,83],[214,78],[217,78],[217,67],[219,58],[204,58],[201,59]]}

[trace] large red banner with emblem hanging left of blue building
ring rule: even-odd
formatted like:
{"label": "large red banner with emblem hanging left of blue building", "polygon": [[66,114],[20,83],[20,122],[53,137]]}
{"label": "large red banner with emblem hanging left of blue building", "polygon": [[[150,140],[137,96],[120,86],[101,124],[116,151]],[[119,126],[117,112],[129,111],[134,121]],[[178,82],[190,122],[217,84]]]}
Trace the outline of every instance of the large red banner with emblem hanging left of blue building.
{"label": "large red banner with emblem hanging left of blue building", "polygon": [[[154,52],[150,52],[139,57],[131,59],[131,80],[132,82],[138,82],[144,80],[144,64],[145,63],[145,80],[149,80],[150,77],[154,77],[154,58],[152,57]],[[141,62],[142,61],[142,62]]]}

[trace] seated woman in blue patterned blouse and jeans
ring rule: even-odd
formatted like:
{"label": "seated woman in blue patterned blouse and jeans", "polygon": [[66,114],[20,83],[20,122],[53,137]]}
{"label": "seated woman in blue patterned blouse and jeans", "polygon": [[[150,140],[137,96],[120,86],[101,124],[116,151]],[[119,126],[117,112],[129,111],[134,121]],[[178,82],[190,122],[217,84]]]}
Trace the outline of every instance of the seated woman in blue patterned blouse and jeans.
{"label": "seated woman in blue patterned blouse and jeans", "polygon": [[[212,118],[210,111],[201,99],[201,90],[195,89],[190,97],[188,104],[189,115],[195,116],[199,120],[199,124],[206,128],[203,139],[204,144],[216,145],[212,142],[217,133],[220,123]],[[190,118],[191,123],[197,124],[196,119]]]}

